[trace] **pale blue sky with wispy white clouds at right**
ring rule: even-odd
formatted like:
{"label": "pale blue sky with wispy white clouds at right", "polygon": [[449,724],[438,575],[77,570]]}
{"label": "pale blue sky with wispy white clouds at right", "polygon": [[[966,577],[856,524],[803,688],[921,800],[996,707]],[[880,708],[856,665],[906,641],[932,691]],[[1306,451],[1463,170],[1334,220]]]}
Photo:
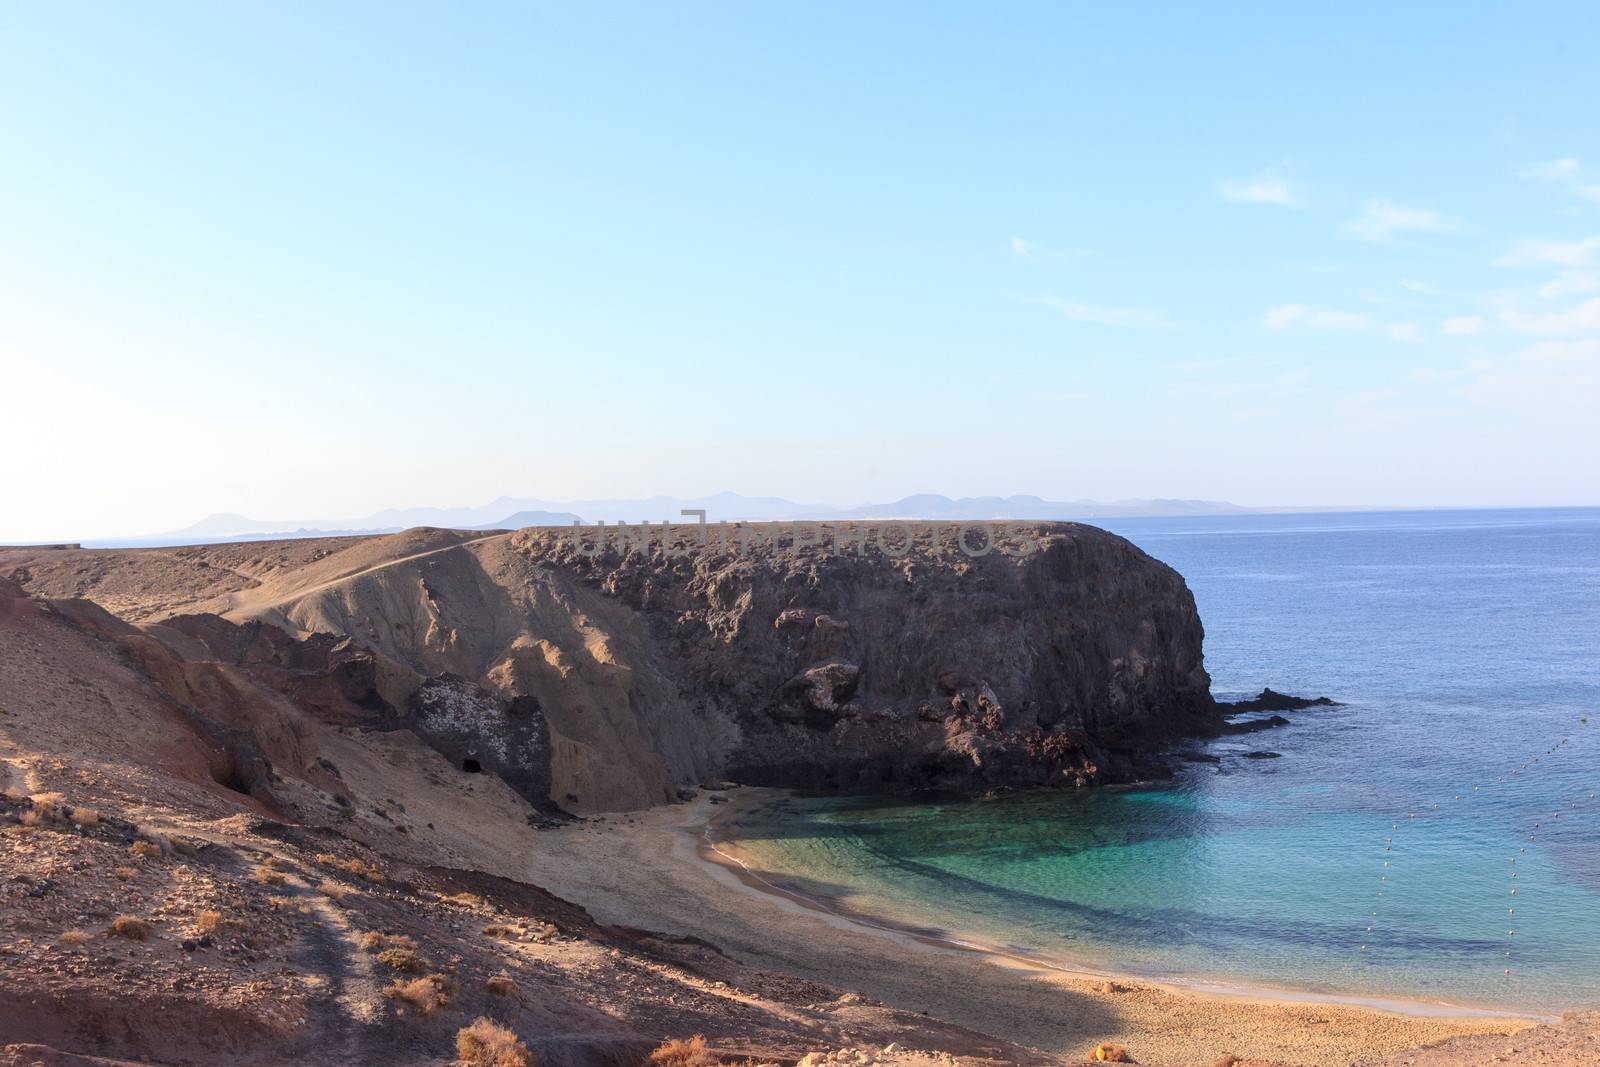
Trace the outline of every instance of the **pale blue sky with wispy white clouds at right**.
{"label": "pale blue sky with wispy white clouds at right", "polygon": [[1581,5],[32,5],[0,539],[1600,502]]}

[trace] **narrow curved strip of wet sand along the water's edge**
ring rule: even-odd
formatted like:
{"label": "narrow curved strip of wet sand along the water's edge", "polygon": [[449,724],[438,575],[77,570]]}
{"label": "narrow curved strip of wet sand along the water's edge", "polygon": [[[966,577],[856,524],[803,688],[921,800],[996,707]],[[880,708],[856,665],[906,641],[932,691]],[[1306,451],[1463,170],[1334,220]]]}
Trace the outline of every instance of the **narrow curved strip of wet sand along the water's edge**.
{"label": "narrow curved strip of wet sand along the water's edge", "polygon": [[768,878],[757,873],[746,861],[728,851],[728,846],[738,848],[730,841],[720,841],[715,838],[715,830],[720,822],[749,811],[757,803],[765,798],[782,795],[786,790],[776,789],[755,789],[755,787],[739,787],[738,790],[726,790],[728,801],[725,805],[712,806],[706,797],[699,797],[688,806],[691,816],[702,816],[698,822],[685,821],[686,830],[699,830],[699,849],[698,856],[701,862],[720,867],[733,873],[741,885],[747,889],[789,901],[800,907],[813,909],[826,915],[832,915],[838,920],[859,926],[862,929],[877,931],[882,934],[896,934],[902,937],[910,937],[920,941],[934,949],[944,950],[960,950],[971,952],[984,957],[995,957],[1000,960],[1021,963],[1026,966],[1037,966],[1046,971],[1054,971],[1077,979],[1093,979],[1093,981],[1114,981],[1126,982],[1134,985],[1147,985],[1154,989],[1162,989],[1171,993],[1197,993],[1210,997],[1235,997],[1258,1001],[1278,1001],[1285,1005],[1338,1005],[1346,1008],[1360,1008],[1366,1011],[1382,1011],[1398,1016],[1413,1016],[1419,1019],[1501,1019],[1509,1022],[1560,1022],[1560,1013],[1531,1013],[1518,1011],[1514,1008],[1498,1008],[1498,1006],[1478,1006],[1478,1005],[1458,1005],[1450,1001],[1422,1000],[1413,997],[1374,997],[1362,993],[1336,993],[1336,992],[1320,992],[1312,989],[1296,989],[1270,984],[1254,984],[1248,979],[1230,979],[1230,977],[1205,977],[1205,976],[1182,976],[1182,977],[1152,977],[1146,974],[1138,974],[1133,971],[1117,971],[1114,968],[1096,966],[1086,960],[1062,960],[1059,957],[1050,957],[1043,953],[1021,952],[1018,949],[1005,949],[995,944],[984,942],[978,937],[962,934],[958,931],[949,931],[941,928],[918,926],[915,923],[901,921],[893,917],[858,912],[848,907],[829,901],[826,897],[810,896],[798,889],[778,885]]}

